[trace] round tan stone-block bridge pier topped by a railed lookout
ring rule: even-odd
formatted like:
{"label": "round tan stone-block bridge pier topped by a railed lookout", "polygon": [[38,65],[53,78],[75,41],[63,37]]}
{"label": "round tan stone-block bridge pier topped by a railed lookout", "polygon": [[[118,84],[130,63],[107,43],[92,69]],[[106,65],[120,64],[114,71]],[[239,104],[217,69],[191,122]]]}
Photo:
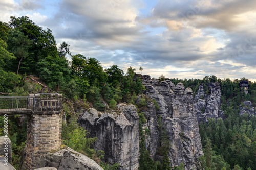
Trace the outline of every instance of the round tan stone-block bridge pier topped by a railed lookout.
{"label": "round tan stone-block bridge pier topped by a railed lookout", "polygon": [[29,94],[32,114],[27,122],[27,149],[22,169],[36,169],[38,160],[61,145],[62,95]]}

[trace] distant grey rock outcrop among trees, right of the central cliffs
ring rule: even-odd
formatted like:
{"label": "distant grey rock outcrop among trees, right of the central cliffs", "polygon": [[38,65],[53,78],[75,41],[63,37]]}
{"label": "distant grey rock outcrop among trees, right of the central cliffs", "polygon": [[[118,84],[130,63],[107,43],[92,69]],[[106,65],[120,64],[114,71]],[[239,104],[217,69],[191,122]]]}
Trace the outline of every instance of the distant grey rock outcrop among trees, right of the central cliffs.
{"label": "distant grey rock outcrop among trees, right of the central cliffs", "polygon": [[[207,91],[208,94],[205,92]],[[201,84],[194,98],[194,108],[198,122],[207,122],[207,118],[225,118],[221,110],[220,83]]]}

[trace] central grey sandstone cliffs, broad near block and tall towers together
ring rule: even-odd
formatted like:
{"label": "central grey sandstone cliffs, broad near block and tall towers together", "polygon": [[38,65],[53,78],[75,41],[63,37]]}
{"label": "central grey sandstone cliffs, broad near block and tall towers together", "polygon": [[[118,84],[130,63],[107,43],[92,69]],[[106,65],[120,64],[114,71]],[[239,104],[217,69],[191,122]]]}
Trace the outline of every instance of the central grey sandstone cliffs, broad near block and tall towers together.
{"label": "central grey sandstone cliffs, broad near block and tall towers together", "polygon": [[[142,77],[142,76],[140,76]],[[193,92],[185,89],[182,83],[174,84],[166,79],[159,82],[144,75],[142,83],[146,90],[143,92],[159,105],[156,110],[152,100],[147,100],[147,107],[140,108],[146,122],[143,129],[149,129],[146,136],[146,148],[152,158],[161,160],[157,152],[161,145],[158,130],[158,117],[168,132],[171,148],[168,151],[172,166],[181,162],[185,169],[193,169],[196,159],[203,155],[196,113],[193,107]],[[140,101],[138,96],[136,103]],[[139,163],[139,117],[134,105],[119,104],[117,109],[104,113],[91,108],[84,111],[78,123],[85,127],[91,136],[97,136],[96,150],[105,152],[105,161],[110,164],[119,163],[119,169],[138,169]]]}

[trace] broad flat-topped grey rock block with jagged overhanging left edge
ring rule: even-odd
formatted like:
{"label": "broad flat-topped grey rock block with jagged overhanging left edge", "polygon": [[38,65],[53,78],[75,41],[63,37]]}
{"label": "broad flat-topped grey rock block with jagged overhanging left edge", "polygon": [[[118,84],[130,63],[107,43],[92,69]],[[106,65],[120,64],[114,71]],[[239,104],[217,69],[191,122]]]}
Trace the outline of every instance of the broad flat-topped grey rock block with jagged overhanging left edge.
{"label": "broad flat-topped grey rock block with jagged overhanging left edge", "polygon": [[91,136],[99,139],[96,150],[105,152],[104,160],[111,165],[119,163],[119,169],[139,167],[139,117],[134,105],[119,104],[116,110],[104,113],[93,108],[84,111],[78,123]]}

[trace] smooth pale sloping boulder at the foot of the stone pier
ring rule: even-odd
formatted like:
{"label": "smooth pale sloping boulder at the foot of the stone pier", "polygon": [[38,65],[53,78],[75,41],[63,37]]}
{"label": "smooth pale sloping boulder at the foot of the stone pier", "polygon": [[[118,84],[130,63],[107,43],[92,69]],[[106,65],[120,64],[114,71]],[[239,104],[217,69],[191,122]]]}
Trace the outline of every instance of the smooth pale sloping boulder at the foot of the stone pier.
{"label": "smooth pale sloping boulder at the foot of the stone pier", "polygon": [[[103,170],[94,160],[87,156],[72,150],[64,145],[62,148],[50,151],[38,161],[40,167],[46,169],[56,168],[58,170],[66,169],[87,169],[87,170]],[[44,169],[44,168],[42,168]]]}

